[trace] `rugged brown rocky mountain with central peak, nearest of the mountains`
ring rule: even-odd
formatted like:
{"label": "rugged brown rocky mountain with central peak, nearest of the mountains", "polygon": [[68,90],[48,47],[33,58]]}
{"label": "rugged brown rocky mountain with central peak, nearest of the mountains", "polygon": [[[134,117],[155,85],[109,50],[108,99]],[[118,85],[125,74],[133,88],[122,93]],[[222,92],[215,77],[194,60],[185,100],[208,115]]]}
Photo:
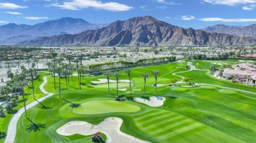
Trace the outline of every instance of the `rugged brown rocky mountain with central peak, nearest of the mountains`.
{"label": "rugged brown rocky mountain with central peak, nearest of the mountains", "polygon": [[39,37],[19,44],[41,46],[230,46],[256,44],[256,39],[253,37],[234,37],[227,34],[207,33],[192,28],[184,29],[156,20],[151,16],[144,16],[125,21],[116,21],[102,29],[88,30],[75,35]]}

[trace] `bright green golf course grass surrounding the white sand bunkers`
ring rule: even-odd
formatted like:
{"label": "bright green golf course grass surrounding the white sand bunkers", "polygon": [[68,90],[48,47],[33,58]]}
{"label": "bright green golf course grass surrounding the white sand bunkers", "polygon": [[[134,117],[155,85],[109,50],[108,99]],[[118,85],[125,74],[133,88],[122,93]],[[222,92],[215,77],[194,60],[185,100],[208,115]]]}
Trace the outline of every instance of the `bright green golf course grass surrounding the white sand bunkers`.
{"label": "bright green golf course grass surrounding the white sand bunkers", "polygon": [[[57,130],[70,121],[84,121],[96,126],[106,118],[119,118],[123,121],[119,129],[121,133],[145,142],[256,142],[256,87],[217,79],[209,74],[211,63],[232,65],[242,62],[236,59],[197,62],[200,67],[192,70],[186,69],[185,61],[134,67],[131,69],[131,93],[125,70],[118,71],[119,89],[117,82],[110,82],[109,85],[108,82],[93,83],[106,79],[104,74],[85,74],[81,77],[83,84],[80,89],[75,73],[70,76],[68,86],[64,76],[56,76],[54,89],[53,76],[48,71],[40,71],[39,78],[33,83],[38,101],[32,97],[30,83],[24,89],[26,104],[37,103],[27,110],[28,118],[24,113],[18,118],[16,136],[10,138],[17,143],[92,142],[93,134],[60,135]],[[153,86],[156,79],[152,71],[159,72],[157,84],[164,86]],[[142,73],[149,75],[145,78],[146,82]],[[192,79],[189,82],[195,83],[195,86],[182,82],[184,77]],[[178,82],[171,82],[173,78]],[[116,77],[110,76],[110,80],[116,81]],[[39,88],[44,81],[42,88],[47,93]],[[115,100],[117,92],[122,101]],[[51,93],[53,95],[49,95]],[[39,101],[47,95],[49,97]],[[150,97],[164,97],[165,100],[161,106],[149,106],[134,100]],[[23,103],[20,102],[14,110],[22,108]],[[7,133],[7,136],[14,115],[9,113],[0,118],[0,131]],[[108,142],[107,134],[102,131],[101,135]],[[7,138],[1,138],[0,142],[7,142]],[[112,142],[115,142],[113,138]]]}

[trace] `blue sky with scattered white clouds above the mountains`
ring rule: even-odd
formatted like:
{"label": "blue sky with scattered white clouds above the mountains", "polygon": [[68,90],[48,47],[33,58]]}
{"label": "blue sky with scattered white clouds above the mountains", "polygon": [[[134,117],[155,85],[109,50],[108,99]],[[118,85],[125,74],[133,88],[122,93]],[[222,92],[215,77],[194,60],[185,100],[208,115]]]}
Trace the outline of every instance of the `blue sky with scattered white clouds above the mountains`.
{"label": "blue sky with scattered white clouds above the mountains", "polygon": [[62,17],[110,24],[153,16],[172,25],[256,24],[256,0],[0,0],[0,25],[33,25]]}

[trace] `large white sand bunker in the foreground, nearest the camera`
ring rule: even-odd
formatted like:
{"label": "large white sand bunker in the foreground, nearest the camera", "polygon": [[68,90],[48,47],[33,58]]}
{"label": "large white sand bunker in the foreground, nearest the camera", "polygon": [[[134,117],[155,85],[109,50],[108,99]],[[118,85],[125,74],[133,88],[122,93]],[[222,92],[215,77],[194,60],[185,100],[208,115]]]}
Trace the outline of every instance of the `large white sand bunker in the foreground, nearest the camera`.
{"label": "large white sand bunker in the foreground, nearest the camera", "polygon": [[123,120],[121,118],[106,118],[98,125],[92,125],[85,121],[70,121],[58,128],[56,132],[63,136],[70,136],[75,134],[92,135],[97,131],[100,131],[107,136],[107,142],[146,142],[122,133],[119,130],[122,123]]}

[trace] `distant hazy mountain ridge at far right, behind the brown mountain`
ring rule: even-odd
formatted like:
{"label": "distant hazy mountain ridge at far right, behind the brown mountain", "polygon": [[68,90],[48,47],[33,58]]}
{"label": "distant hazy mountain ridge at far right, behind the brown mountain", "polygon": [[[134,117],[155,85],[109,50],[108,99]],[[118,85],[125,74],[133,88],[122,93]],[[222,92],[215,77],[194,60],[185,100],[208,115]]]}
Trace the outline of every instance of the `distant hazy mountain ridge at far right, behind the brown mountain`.
{"label": "distant hazy mountain ridge at far right, behind the brown mountain", "polygon": [[256,24],[248,26],[228,26],[228,25],[214,25],[202,29],[209,33],[225,33],[237,37],[256,37]]}

